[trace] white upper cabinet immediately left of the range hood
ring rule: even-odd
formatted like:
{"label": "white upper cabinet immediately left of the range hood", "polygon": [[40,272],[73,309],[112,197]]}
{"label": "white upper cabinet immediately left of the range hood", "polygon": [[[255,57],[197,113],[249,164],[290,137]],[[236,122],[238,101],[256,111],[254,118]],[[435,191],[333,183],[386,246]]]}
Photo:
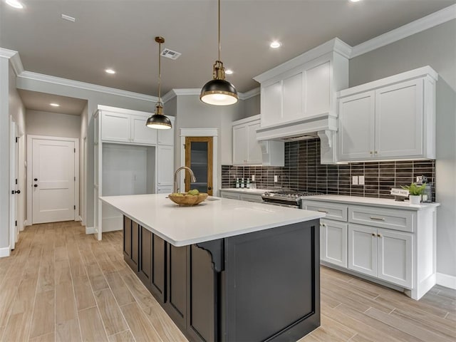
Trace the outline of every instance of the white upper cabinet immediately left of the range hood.
{"label": "white upper cabinet immediately left of the range hood", "polygon": [[233,165],[261,165],[261,146],[257,141],[259,115],[233,123]]}

